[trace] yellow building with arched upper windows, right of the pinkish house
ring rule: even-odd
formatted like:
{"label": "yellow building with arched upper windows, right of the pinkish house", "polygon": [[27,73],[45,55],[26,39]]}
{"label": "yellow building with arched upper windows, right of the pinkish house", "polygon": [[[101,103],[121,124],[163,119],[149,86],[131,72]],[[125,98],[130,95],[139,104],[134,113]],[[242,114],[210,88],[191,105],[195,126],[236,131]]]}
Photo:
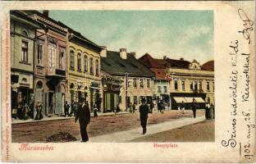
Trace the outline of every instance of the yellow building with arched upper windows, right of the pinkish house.
{"label": "yellow building with arched upper windows, right of the pinkish house", "polygon": [[79,103],[85,98],[92,110],[100,108],[100,55],[101,48],[80,33],[69,29],[68,37],[68,93],[66,101]]}

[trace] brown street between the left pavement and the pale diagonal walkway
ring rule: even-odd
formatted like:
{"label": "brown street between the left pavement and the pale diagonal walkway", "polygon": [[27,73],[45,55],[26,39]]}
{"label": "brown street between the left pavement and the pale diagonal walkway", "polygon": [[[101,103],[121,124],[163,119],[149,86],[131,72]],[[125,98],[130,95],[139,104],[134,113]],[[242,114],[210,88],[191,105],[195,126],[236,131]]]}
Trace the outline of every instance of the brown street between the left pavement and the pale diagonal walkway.
{"label": "brown street between the left pavement and the pale diagonal walkway", "polygon": [[[204,110],[198,110],[198,116],[204,115]],[[161,114],[153,111],[149,114],[148,125],[170,121],[171,119],[178,119],[181,117],[192,117],[190,110],[182,114],[179,111],[167,111]],[[12,142],[46,142],[46,139],[58,132],[68,132],[80,140],[79,123],[75,123],[74,118],[67,120],[56,121],[40,121],[30,122],[24,124],[14,124],[12,127]],[[131,130],[140,127],[139,125],[139,112],[111,115],[111,116],[98,116],[98,118],[91,118],[88,126],[89,137],[94,137],[103,134],[111,134],[118,131]]]}

